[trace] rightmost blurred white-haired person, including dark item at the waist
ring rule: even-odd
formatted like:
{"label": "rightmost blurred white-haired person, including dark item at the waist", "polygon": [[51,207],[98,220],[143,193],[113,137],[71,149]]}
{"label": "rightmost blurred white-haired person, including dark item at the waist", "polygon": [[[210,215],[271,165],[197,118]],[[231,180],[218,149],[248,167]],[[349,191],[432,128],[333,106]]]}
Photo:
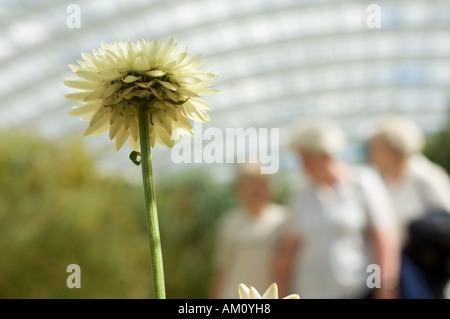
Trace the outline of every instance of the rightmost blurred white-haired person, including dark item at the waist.
{"label": "rightmost blurred white-haired person, including dark item at the waist", "polygon": [[369,144],[398,218],[404,298],[441,298],[450,276],[450,179],[421,154],[424,144],[419,127],[399,115],[378,119]]}

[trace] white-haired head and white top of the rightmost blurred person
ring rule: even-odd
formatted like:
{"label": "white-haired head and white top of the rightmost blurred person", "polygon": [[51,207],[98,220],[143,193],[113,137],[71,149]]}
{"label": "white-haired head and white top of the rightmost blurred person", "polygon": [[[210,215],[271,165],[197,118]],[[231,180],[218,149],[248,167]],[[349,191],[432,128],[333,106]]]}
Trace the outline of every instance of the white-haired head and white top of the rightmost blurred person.
{"label": "white-haired head and white top of the rightmost blurred person", "polygon": [[391,195],[403,243],[412,220],[433,208],[450,211],[450,180],[440,166],[421,154],[424,145],[417,125],[399,115],[378,119],[370,140],[370,160]]}

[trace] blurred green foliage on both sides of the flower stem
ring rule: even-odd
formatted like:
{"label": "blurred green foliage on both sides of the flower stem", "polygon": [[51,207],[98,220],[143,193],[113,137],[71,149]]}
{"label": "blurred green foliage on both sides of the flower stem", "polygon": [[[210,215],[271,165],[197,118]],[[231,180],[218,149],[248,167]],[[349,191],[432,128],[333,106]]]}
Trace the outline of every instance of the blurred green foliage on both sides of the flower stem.
{"label": "blurred green foliage on both sides of the flower stem", "polygon": [[[0,298],[151,298],[141,185],[99,177],[82,144],[0,134]],[[130,165],[133,165],[130,162]],[[229,185],[156,181],[168,298],[208,298]],[[81,288],[69,289],[69,264]]]}

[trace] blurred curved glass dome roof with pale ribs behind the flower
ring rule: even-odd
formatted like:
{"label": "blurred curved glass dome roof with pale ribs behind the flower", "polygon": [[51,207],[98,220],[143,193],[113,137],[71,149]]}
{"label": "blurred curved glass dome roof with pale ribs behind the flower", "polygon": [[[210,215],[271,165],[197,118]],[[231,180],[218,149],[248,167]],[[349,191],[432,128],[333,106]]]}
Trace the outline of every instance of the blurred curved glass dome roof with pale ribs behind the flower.
{"label": "blurred curved glass dome roof with pale ribs behind the flower", "polygon": [[[331,117],[349,136],[349,158],[358,160],[368,119],[406,114],[431,133],[442,127],[449,105],[450,2],[378,1],[378,11],[371,4],[2,0],[0,129],[81,139],[86,123],[67,116],[73,106],[64,98],[67,65],[101,41],[173,38],[189,54],[202,53],[206,68],[219,75],[220,93],[206,98],[212,120],[203,128],[279,128],[282,170],[295,165],[290,123]],[[107,134],[85,142],[104,172],[134,176],[129,148],[116,152]],[[186,167],[171,160],[170,149],[156,147],[153,156],[158,171]],[[205,168],[226,176],[231,165]]]}

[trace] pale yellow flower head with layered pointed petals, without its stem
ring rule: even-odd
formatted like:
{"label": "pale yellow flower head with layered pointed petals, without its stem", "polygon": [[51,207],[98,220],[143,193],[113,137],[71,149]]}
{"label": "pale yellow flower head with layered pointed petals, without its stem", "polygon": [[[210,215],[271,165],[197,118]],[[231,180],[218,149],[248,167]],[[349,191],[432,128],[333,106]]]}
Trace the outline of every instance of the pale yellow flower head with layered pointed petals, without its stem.
{"label": "pale yellow flower head with layered pointed petals, without its stem", "polygon": [[82,116],[89,127],[85,135],[109,129],[109,137],[119,150],[128,140],[132,150],[139,148],[138,107],[149,112],[150,143],[172,147],[174,139],[193,135],[189,119],[207,121],[211,107],[201,95],[215,93],[210,88],[217,76],[198,70],[206,60],[176,50],[171,39],[101,43],[92,54],[82,53],[79,65],[69,65],[78,78],[64,81],[78,92],[66,98],[80,102],[69,112]]}

